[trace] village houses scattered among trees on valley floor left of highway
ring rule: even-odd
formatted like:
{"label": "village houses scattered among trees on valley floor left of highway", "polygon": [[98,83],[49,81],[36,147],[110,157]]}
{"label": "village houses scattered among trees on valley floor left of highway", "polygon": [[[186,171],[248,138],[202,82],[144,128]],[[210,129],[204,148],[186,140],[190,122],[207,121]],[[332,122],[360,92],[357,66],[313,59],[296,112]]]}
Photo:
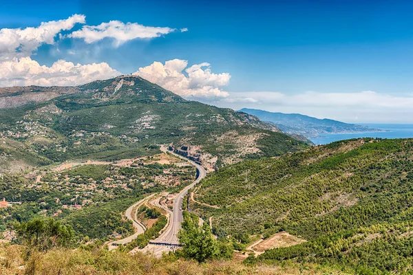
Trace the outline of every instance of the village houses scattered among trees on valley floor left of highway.
{"label": "village houses scattered among trees on valley floor left of highway", "polygon": [[[129,197],[136,190],[179,188],[181,184],[189,184],[194,177],[191,165],[173,155],[160,153],[117,162],[89,160],[34,170],[25,175],[27,184],[19,188],[22,192],[30,190],[32,194],[38,194],[30,204],[35,206],[38,215],[61,218],[100,201]],[[24,207],[28,199],[23,197],[25,203],[21,203],[3,198],[0,220],[7,221],[14,205]],[[14,232],[4,230],[2,236],[3,241],[12,241]]]}

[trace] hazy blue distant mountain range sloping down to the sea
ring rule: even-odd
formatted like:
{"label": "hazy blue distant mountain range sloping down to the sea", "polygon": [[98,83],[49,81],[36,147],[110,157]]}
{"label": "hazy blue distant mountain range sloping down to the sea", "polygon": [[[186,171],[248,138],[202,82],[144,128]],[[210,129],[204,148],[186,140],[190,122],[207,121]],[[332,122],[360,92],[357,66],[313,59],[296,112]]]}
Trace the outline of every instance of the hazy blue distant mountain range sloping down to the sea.
{"label": "hazy blue distant mountain range sloping down to the sea", "polygon": [[368,126],[348,124],[337,120],[312,118],[299,113],[271,113],[257,109],[241,109],[244,113],[257,116],[262,121],[270,122],[285,133],[304,135],[304,137],[317,137],[325,133],[366,133],[381,132]]}

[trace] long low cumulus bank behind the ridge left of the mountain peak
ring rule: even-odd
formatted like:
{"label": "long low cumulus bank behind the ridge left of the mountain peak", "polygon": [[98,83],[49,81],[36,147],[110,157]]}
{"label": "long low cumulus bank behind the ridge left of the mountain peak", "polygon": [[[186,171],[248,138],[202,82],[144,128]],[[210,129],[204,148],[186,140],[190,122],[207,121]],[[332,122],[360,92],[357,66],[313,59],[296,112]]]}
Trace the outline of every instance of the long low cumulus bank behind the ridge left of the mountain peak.
{"label": "long low cumulus bank behind the ridge left of the mountain peak", "polygon": [[0,86],[73,86],[107,79],[120,73],[107,63],[74,64],[63,60],[51,67],[40,65],[30,57],[0,62]]}

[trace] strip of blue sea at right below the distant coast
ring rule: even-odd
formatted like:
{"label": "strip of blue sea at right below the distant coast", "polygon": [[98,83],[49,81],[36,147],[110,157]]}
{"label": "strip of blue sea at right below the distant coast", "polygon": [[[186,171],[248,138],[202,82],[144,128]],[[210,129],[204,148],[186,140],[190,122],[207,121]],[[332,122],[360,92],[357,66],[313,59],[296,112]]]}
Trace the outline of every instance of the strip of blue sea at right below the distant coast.
{"label": "strip of blue sea at right below the distant coast", "polygon": [[374,129],[387,130],[387,132],[370,133],[329,133],[319,137],[310,138],[315,144],[328,144],[338,140],[349,140],[357,137],[405,138],[413,137],[413,124],[363,124]]}

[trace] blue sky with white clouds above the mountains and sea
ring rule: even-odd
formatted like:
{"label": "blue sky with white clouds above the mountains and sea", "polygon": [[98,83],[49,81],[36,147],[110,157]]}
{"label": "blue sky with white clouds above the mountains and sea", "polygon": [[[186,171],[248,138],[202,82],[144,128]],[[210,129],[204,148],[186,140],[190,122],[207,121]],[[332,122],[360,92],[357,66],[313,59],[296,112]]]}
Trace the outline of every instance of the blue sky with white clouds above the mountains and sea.
{"label": "blue sky with white clouds above the mountains and sea", "polygon": [[397,0],[0,0],[0,87],[136,74],[219,107],[413,123],[412,10]]}

